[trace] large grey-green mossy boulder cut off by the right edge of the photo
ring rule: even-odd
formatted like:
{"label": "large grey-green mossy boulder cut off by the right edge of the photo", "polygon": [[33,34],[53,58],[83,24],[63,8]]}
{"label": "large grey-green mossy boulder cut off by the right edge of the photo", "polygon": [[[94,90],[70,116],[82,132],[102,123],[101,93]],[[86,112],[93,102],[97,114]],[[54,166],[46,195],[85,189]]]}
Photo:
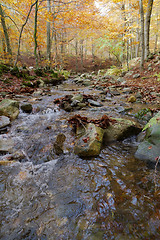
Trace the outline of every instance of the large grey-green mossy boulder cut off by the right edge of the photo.
{"label": "large grey-green mossy boulder cut off by the right edge of the photo", "polygon": [[160,156],[160,112],[157,113],[143,128],[144,140],[139,144],[135,157],[156,163]]}

